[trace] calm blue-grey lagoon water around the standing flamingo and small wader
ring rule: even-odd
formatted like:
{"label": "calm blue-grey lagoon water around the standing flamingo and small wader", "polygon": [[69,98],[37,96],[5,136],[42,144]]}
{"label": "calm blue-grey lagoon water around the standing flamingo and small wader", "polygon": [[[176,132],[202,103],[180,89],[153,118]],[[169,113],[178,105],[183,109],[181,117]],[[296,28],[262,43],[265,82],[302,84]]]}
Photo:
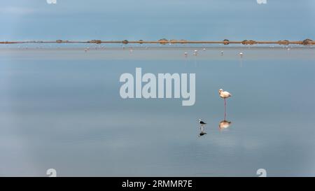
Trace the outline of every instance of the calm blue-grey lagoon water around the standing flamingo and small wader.
{"label": "calm blue-grey lagoon water around the standing flamingo and small wader", "polygon": [[[0,176],[315,176],[315,49],[193,50],[2,48]],[[195,105],[121,99],[136,67],[196,73]]]}

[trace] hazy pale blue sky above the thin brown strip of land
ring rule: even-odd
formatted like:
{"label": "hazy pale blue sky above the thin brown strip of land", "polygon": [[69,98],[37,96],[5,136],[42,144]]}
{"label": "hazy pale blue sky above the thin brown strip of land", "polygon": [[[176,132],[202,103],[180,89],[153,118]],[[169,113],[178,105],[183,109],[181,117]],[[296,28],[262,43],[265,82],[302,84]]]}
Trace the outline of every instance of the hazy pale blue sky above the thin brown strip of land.
{"label": "hazy pale blue sky above the thin brown strip of land", "polygon": [[0,40],[314,38],[315,1],[1,1]]}

